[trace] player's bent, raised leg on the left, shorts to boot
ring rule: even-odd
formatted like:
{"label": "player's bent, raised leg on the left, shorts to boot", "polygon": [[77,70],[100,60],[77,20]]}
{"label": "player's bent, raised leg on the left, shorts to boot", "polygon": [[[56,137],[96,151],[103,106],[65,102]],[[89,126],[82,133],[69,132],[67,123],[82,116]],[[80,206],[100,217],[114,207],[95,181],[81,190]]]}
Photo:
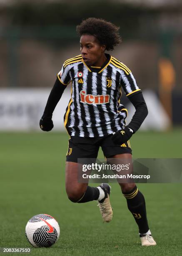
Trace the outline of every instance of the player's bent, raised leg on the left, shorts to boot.
{"label": "player's bent, raised leg on the left, shorts to boot", "polygon": [[[92,200],[98,200],[99,205],[104,208],[102,204],[108,201],[110,194],[110,187],[107,184],[101,184],[98,187],[90,187],[88,183],[78,182],[79,168],[82,164],[77,163],[77,159],[96,159],[99,150],[99,144],[95,138],[80,138],[71,137],[69,140],[66,162],[66,192],[68,198],[72,202],[84,203]],[[110,206],[110,212],[112,208]],[[108,202],[107,207],[102,212],[107,211],[107,216],[102,215],[105,221],[109,222],[108,218]]]}

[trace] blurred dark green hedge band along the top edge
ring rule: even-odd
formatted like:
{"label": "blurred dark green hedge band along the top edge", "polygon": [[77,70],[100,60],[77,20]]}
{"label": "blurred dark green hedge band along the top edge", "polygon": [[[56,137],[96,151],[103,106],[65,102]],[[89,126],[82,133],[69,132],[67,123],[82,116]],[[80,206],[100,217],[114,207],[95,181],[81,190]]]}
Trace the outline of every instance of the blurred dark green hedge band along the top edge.
{"label": "blurred dark green hedge band along the top edge", "polygon": [[[67,0],[60,3],[17,3],[0,9],[0,15],[8,24],[18,27],[61,26],[72,27],[88,17],[104,18],[120,26],[122,36],[130,34],[145,36],[157,33],[157,19],[162,13],[172,12],[172,8],[147,8],[111,0]],[[174,12],[180,11],[179,8]]]}

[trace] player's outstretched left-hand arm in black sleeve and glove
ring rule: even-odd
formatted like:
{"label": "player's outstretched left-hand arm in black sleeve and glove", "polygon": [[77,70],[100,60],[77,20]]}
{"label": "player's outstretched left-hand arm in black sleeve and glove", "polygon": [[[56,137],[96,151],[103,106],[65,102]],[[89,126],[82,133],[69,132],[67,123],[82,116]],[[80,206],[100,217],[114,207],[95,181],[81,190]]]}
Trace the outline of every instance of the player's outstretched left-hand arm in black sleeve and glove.
{"label": "player's outstretched left-hand arm in black sleeve and glove", "polygon": [[51,131],[54,127],[52,122],[52,113],[55,110],[67,84],[70,82],[69,71],[62,67],[62,70],[57,74],[55,84],[50,92],[50,95],[45,106],[44,113],[40,119],[40,128],[42,131]]}

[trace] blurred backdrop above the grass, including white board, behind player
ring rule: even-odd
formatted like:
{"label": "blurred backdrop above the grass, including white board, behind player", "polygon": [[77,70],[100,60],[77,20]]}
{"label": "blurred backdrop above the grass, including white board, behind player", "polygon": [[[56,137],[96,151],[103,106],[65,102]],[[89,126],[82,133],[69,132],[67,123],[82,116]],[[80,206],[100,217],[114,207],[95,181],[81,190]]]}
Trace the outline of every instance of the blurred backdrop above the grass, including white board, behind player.
{"label": "blurred backdrop above the grass, including white board, behind player", "polygon": [[[181,0],[0,0],[0,129],[39,129],[47,97],[63,62],[80,54],[76,25],[88,17],[120,26],[111,52],[125,63],[149,108],[143,130],[182,125]],[[63,130],[70,86],[53,114]],[[122,101],[134,108],[125,95]]]}

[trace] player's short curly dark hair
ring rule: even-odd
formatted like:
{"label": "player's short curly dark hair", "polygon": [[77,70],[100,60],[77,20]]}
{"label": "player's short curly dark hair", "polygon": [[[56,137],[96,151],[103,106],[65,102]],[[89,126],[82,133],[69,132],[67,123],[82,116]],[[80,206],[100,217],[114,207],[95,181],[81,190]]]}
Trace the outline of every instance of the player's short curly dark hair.
{"label": "player's short curly dark hair", "polygon": [[121,42],[119,29],[120,27],[115,26],[109,21],[98,18],[87,18],[77,26],[77,33],[79,36],[83,34],[95,36],[100,44],[105,44],[106,50],[110,51],[114,50],[114,46],[117,46]]}

